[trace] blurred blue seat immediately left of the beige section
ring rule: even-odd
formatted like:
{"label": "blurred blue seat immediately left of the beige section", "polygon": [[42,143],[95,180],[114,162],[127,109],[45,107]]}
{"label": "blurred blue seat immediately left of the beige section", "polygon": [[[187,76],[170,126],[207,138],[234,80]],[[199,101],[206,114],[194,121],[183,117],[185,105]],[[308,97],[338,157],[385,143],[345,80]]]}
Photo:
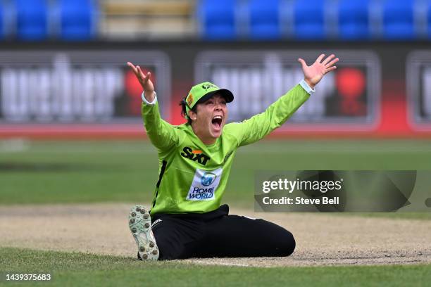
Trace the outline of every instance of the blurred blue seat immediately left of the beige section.
{"label": "blurred blue seat immediately left of the beige section", "polygon": [[60,37],[85,41],[96,34],[97,8],[92,0],[60,0]]}

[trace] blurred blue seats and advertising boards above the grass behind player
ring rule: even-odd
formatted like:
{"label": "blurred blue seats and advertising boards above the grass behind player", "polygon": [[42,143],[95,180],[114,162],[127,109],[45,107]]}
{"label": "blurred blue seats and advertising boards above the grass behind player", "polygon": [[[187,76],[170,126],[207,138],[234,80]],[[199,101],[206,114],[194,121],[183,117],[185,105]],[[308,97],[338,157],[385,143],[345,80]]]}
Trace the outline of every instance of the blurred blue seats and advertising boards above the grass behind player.
{"label": "blurred blue seats and advertising boards above the grass behind player", "polygon": [[230,120],[242,120],[301,80],[297,58],[320,53],[336,53],[339,69],[275,135],[427,135],[430,9],[428,0],[1,0],[0,136],[144,136],[129,60],[153,73],[168,121],[184,122],[177,103],[206,80],[234,92]]}

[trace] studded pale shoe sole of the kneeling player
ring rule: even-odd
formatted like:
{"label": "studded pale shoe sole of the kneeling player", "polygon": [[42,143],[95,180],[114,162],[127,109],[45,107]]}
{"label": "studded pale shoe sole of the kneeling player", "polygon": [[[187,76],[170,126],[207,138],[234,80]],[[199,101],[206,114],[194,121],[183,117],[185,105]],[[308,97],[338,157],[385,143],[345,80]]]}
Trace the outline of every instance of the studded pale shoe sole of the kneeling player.
{"label": "studded pale shoe sole of the kneeling player", "polygon": [[129,213],[129,228],[138,245],[142,260],[158,260],[158,247],[151,229],[151,217],[142,205],[136,205]]}

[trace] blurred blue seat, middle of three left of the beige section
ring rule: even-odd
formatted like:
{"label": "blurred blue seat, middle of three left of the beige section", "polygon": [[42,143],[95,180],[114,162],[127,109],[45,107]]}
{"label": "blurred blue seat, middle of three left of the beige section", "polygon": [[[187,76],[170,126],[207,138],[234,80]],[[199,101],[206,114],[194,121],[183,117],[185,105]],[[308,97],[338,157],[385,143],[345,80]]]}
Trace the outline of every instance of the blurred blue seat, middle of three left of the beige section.
{"label": "blurred blue seat, middle of three left of the beige section", "polygon": [[17,37],[44,40],[48,37],[48,6],[45,0],[15,0]]}

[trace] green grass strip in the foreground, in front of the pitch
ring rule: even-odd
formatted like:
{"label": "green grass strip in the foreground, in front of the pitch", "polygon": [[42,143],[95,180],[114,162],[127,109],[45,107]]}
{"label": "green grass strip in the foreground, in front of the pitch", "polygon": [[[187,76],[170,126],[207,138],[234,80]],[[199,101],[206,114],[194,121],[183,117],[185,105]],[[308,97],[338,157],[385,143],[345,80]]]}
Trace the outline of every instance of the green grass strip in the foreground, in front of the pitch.
{"label": "green grass strip in the foreground, in front of the pitch", "polygon": [[80,286],[427,286],[431,281],[429,265],[197,266],[180,261],[138,262],[125,257],[17,248],[0,248],[0,260],[2,267],[7,265],[2,269],[0,284],[6,282],[8,272],[51,274],[51,283],[56,286],[77,286],[77,282]]}

